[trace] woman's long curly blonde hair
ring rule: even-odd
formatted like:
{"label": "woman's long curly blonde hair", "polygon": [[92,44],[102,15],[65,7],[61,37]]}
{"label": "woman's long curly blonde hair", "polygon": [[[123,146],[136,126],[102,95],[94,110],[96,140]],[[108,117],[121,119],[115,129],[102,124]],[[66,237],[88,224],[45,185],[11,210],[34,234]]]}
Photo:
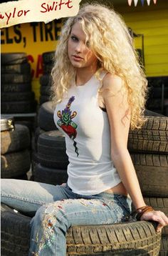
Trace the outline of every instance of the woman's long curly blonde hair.
{"label": "woman's long curly blonde hair", "polygon": [[140,129],[146,121],[147,79],[125,21],[114,9],[102,4],[85,4],[77,16],[65,22],[51,72],[53,102],[61,102],[70,81],[75,81],[75,68],[68,59],[68,39],[77,21],[86,34],[86,41],[89,40],[90,49],[98,58],[98,67],[117,74],[125,82],[123,89],[127,89],[131,109],[130,129]]}

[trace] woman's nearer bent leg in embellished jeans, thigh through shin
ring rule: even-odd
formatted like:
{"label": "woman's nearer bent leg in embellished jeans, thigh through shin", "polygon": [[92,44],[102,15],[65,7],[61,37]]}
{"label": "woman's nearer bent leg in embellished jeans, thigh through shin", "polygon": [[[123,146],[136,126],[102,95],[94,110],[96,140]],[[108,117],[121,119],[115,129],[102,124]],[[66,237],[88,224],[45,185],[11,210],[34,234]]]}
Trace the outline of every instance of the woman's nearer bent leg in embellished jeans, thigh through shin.
{"label": "woman's nearer bent leg in embellished jeans, thigh through shin", "polygon": [[97,198],[61,200],[39,208],[31,220],[30,251],[65,255],[65,233],[70,226],[112,224],[130,216],[127,200],[122,196],[101,193],[94,197]]}

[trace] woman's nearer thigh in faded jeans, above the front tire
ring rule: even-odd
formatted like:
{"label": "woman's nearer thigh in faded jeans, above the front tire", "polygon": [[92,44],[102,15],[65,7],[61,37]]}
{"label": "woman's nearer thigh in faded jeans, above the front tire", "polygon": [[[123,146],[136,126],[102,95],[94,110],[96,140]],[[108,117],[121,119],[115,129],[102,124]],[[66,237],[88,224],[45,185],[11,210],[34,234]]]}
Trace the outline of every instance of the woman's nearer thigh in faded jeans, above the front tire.
{"label": "woman's nearer thigh in faded jeans, above the front tire", "polygon": [[[126,221],[130,210],[118,200],[68,199],[51,202],[38,210],[41,220],[51,220],[71,225],[99,225]],[[37,215],[38,215],[37,212]],[[43,223],[46,223],[44,221]],[[56,224],[57,221],[54,223]],[[46,227],[49,227],[46,223]]]}

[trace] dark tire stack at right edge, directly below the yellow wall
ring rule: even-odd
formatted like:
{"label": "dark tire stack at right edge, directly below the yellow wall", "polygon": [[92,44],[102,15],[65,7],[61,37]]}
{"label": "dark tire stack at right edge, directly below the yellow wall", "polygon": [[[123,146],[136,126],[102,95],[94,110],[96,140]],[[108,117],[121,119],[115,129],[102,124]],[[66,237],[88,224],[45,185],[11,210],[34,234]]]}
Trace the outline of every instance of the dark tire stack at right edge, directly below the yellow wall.
{"label": "dark tire stack at right edge, directly below the yellow wall", "polygon": [[168,116],[168,77],[147,77],[147,109]]}

